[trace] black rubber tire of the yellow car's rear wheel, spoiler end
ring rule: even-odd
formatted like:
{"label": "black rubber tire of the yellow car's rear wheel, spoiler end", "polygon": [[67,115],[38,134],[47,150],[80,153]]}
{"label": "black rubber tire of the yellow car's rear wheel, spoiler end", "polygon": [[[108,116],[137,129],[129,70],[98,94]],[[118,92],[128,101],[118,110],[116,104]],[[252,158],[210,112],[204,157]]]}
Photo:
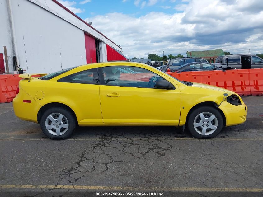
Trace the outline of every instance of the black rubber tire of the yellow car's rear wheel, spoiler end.
{"label": "black rubber tire of the yellow car's rear wheel, spoiler end", "polygon": [[[48,116],[51,115],[51,114],[62,114],[63,115],[63,120],[62,121],[65,121],[65,123],[68,124],[67,131],[64,134],[59,135],[59,136],[58,135],[54,135],[54,134],[51,134],[48,131],[48,129],[46,128],[46,120],[47,120]],[[56,115],[54,115],[54,117],[56,117]],[[56,120],[56,119],[54,119],[54,120]],[[62,122],[62,124],[63,124],[63,122]],[[48,138],[53,139],[53,140],[63,140],[63,139],[69,138],[73,134],[73,132],[75,130],[75,127],[76,127],[76,120],[75,120],[73,114],[69,110],[67,110],[65,108],[62,108],[62,107],[51,107],[50,109],[46,110],[43,113],[43,115],[41,117],[41,120],[40,120],[40,126],[41,126],[41,129],[42,129],[43,133]],[[61,128],[61,130],[65,131],[65,128]],[[53,129],[52,131],[55,132],[56,130]],[[63,132],[61,132],[61,133],[63,133]]]}

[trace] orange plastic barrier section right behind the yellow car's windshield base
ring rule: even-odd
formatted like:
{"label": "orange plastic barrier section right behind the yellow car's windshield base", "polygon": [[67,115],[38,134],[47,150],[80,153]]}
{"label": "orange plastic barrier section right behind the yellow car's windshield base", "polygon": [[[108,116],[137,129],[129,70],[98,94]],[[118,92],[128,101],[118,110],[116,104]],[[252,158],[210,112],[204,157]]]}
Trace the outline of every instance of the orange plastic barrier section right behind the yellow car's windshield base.
{"label": "orange plastic barrier section right behind the yellow car's windshield base", "polygon": [[190,71],[190,72],[181,72],[181,73],[168,72],[167,74],[181,81],[202,83],[202,71],[197,71],[197,72]]}

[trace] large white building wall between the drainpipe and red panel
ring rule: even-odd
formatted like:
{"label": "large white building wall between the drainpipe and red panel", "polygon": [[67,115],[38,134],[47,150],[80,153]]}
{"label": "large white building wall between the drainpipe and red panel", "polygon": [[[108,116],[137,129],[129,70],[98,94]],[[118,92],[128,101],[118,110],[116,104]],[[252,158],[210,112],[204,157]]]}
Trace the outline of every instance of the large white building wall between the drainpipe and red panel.
{"label": "large white building wall between the drainpipe and red panel", "polygon": [[21,68],[27,72],[26,57],[30,73],[52,73],[61,64],[63,69],[86,64],[83,30],[28,0],[11,3]]}

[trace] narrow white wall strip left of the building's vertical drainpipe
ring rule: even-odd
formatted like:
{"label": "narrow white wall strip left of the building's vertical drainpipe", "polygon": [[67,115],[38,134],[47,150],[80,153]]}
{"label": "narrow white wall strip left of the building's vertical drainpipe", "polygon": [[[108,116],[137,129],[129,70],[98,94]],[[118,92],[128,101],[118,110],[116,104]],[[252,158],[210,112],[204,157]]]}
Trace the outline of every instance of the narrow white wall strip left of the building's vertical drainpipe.
{"label": "narrow white wall strip left of the building's vertical drainpipe", "polygon": [[[7,0],[0,0],[0,53],[4,54],[4,46],[7,47],[7,56],[8,56],[8,66],[9,71],[13,72],[13,56],[14,48],[12,45],[12,29],[11,21],[8,12],[8,2]],[[5,61],[4,61],[5,64]],[[5,64],[6,68],[6,64]],[[6,70],[5,70],[6,71]]]}

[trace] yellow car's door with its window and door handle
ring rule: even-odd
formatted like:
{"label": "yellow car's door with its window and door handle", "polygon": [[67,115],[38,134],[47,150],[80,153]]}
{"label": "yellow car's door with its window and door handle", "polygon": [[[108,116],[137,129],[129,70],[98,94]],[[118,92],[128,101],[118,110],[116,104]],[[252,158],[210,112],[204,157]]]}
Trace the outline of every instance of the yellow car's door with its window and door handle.
{"label": "yellow car's door with its window and door handle", "polygon": [[[125,67],[132,68],[99,68],[103,122],[138,125],[179,124],[181,93],[176,83],[165,74],[156,74],[149,68],[136,67],[138,73],[112,73],[113,68]],[[175,89],[155,88],[155,83],[161,79],[171,82]]]}

